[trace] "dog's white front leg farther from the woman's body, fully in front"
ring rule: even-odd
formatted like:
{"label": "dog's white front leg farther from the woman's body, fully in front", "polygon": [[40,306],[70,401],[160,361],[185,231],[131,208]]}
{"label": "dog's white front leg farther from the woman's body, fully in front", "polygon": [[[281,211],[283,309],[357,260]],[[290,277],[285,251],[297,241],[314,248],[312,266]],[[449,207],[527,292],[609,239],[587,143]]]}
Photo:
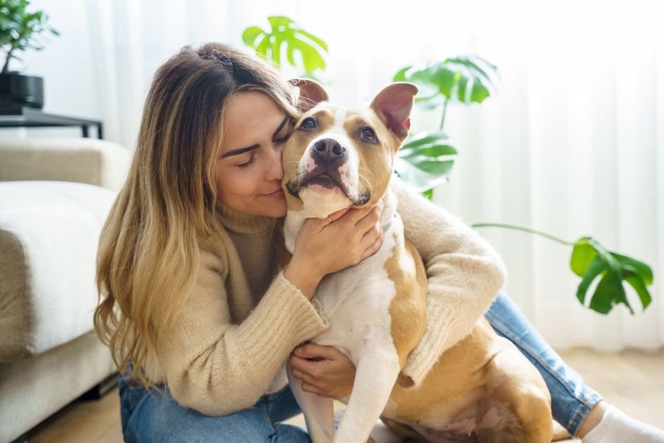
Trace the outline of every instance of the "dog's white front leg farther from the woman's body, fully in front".
{"label": "dog's white front leg farther from the woman's body, fully in front", "polygon": [[399,375],[399,360],[396,352],[386,350],[377,353],[365,349],[358,353],[355,383],[344,418],[339,423],[334,442],[364,443],[385,409],[394,383]]}

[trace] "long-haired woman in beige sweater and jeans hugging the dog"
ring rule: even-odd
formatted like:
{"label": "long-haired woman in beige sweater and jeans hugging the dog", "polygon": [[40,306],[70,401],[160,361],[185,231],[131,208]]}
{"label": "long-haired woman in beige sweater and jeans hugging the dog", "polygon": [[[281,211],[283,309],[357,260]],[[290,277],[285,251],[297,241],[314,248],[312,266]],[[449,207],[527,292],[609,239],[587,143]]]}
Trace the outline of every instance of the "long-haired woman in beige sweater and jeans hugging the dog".
{"label": "long-haired woman in beige sweater and jeans hugging the dog", "polygon": [[[308,220],[279,271],[281,153],[297,114],[277,73],[226,45],[185,47],[155,74],[97,259],[95,327],[123,372],[126,441],[308,442],[279,423],[299,412],[280,371],[289,355],[306,390],[349,392],[355,368],[344,355],[291,351],[327,327],[313,297],[320,280],[380,247],[381,208]],[[427,331],[401,377],[417,385],[469,333],[505,271],[460,220],[406,189],[397,196],[428,274]],[[507,297],[487,317],[536,363],[572,435],[612,417]],[[608,423],[640,432],[618,417]]]}

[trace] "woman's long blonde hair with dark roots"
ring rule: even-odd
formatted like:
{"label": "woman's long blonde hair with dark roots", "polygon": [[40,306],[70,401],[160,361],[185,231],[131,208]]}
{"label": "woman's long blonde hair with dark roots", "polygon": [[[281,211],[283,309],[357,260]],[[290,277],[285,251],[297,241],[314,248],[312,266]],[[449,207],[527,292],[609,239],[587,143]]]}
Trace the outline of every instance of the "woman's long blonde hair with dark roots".
{"label": "woman's long blonde hair with dark roots", "polygon": [[270,95],[291,117],[294,97],[265,62],[207,43],[157,69],[128,177],[99,237],[95,331],[120,372],[141,384],[157,334],[169,333],[195,283],[198,236],[217,229],[216,167],[229,97]]}

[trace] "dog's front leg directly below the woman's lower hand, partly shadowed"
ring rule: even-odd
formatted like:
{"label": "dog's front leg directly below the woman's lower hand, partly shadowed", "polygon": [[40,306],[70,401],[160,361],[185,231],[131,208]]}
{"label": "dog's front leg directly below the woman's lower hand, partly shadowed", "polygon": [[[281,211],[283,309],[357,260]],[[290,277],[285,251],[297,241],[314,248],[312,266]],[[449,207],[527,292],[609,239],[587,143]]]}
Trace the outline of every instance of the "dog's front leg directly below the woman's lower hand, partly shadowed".
{"label": "dog's front leg directly below the woman's lower hand, partly shadowed", "polygon": [[286,365],[286,374],[291,391],[297,400],[309,437],[313,443],[331,443],[334,437],[334,403],[332,398],[325,398],[302,389],[302,381],[291,373],[291,365]]}

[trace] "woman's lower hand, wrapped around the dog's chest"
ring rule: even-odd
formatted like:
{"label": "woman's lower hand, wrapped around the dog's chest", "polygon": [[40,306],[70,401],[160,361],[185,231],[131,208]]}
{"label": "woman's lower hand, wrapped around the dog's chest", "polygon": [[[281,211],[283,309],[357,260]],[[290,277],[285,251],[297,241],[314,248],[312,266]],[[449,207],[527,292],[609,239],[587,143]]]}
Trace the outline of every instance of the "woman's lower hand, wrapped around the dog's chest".
{"label": "woman's lower hand, wrapped around the dog's chest", "polygon": [[302,389],[319,396],[344,398],[355,382],[355,365],[332,346],[307,343],[295,348],[289,358],[293,375]]}

